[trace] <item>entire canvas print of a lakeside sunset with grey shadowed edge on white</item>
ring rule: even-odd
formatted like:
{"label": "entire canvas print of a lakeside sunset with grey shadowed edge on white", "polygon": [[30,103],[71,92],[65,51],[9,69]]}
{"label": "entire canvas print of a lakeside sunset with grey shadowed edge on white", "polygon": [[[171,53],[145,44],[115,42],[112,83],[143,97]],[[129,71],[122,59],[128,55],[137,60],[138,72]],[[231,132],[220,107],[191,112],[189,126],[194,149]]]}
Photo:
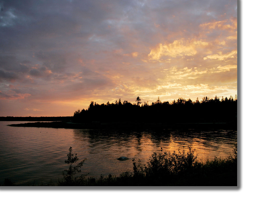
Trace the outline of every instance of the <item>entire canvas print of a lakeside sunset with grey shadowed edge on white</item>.
{"label": "entire canvas print of a lakeside sunset with grey shadowed edge on white", "polygon": [[0,45],[1,186],[238,186],[236,0],[4,0]]}

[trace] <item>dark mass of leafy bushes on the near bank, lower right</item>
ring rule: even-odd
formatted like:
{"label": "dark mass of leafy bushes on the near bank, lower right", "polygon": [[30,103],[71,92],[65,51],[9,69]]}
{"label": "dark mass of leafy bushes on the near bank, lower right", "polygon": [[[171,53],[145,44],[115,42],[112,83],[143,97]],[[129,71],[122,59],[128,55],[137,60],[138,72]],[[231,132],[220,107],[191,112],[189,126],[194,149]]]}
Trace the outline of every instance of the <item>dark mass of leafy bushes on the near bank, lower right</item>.
{"label": "dark mass of leafy bushes on the near bank, lower right", "polygon": [[188,147],[178,152],[153,153],[142,165],[133,161],[133,172],[119,177],[100,176],[83,180],[83,186],[237,186],[237,149],[226,159],[215,157],[206,162],[197,161],[195,149]]}

